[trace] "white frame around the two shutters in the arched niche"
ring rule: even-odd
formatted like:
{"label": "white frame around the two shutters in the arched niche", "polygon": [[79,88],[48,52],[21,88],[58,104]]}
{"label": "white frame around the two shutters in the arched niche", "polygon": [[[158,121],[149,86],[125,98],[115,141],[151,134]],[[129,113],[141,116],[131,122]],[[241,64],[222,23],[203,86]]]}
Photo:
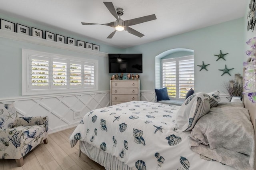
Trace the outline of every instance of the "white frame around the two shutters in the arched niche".
{"label": "white frame around the two shutters in the arched niche", "polygon": [[[181,93],[180,93],[180,71],[179,71],[179,61],[184,61],[184,60],[187,60],[187,59],[193,59],[194,60],[194,55],[189,55],[189,56],[184,56],[184,57],[176,57],[176,58],[168,58],[168,59],[162,59],[161,60],[161,84],[162,84],[162,87],[165,87],[164,86],[164,82],[163,82],[163,63],[164,62],[175,62],[175,71],[176,71],[176,80],[175,80],[175,83],[176,83],[176,97],[171,97],[169,96],[170,98],[172,99],[185,99],[185,96],[181,96]],[[193,67],[194,67],[194,64],[193,64]],[[194,68],[193,68],[194,69]],[[194,70],[193,70],[194,71]],[[193,73],[193,81],[194,81],[194,74]],[[188,87],[189,89],[190,88],[193,88],[194,89],[194,83],[193,85],[190,87]],[[188,91],[189,89],[187,90],[182,90],[182,91]],[[184,95],[184,93],[183,93]]]}

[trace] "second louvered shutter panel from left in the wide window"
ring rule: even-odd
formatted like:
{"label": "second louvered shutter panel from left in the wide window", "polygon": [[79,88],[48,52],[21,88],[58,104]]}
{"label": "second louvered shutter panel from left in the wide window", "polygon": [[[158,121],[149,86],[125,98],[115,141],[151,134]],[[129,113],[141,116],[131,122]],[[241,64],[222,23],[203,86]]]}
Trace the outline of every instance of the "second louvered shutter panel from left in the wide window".
{"label": "second louvered shutter panel from left in the wide window", "polygon": [[67,86],[67,61],[53,59],[52,61],[52,84],[54,88]]}

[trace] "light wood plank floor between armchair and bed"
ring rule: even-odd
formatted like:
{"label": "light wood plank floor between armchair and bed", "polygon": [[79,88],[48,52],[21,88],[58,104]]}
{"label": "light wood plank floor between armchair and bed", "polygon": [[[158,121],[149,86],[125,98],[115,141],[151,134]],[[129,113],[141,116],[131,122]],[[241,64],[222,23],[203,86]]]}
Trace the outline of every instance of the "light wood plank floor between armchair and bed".
{"label": "light wood plank floor between armchair and bed", "polygon": [[75,128],[48,135],[43,142],[24,156],[24,165],[17,167],[15,160],[0,159],[0,170],[105,170],[85,154],[79,157],[79,143],[71,148],[69,137]]}

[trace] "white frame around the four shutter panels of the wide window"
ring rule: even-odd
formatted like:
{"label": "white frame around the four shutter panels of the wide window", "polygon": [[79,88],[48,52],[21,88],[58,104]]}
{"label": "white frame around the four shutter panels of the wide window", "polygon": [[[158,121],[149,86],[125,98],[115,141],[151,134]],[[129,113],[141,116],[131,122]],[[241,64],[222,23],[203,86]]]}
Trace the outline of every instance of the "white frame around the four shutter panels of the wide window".
{"label": "white frame around the four shutter panels of the wide window", "polygon": [[[45,87],[31,85],[31,57],[49,59],[49,85]],[[53,61],[66,61],[67,74],[66,85],[53,85]],[[81,63],[81,85],[70,85],[70,62]],[[84,65],[89,64],[94,66],[93,83],[92,85],[85,85],[84,83]],[[98,91],[98,60],[84,59],[80,57],[72,57],[54,53],[47,53],[42,51],[35,51],[30,49],[22,49],[22,95],[45,95],[45,94],[60,94],[60,93],[76,93],[86,91]]]}

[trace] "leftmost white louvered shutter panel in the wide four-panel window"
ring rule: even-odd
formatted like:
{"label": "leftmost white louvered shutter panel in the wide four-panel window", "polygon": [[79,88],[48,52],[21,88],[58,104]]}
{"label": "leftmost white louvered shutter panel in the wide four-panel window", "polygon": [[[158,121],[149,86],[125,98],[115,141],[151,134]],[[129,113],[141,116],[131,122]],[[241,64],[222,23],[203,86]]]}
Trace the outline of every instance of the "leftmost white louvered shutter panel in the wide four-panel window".
{"label": "leftmost white louvered shutter panel in the wide four-panel window", "polygon": [[30,88],[49,88],[49,58],[30,55]]}

